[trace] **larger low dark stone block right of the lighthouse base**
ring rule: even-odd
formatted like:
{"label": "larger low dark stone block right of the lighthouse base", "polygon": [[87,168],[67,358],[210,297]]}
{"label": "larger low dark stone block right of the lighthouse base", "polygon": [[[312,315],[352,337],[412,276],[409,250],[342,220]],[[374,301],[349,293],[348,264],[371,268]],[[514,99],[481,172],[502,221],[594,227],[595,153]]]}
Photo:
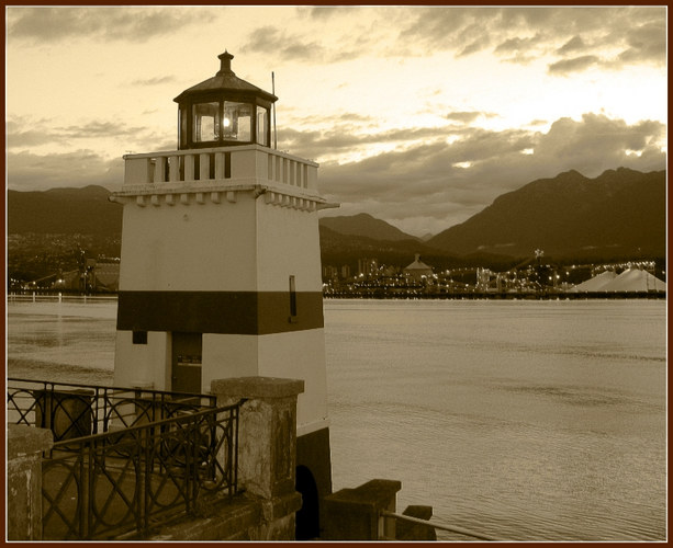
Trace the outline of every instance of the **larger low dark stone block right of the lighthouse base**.
{"label": "larger low dark stone block right of the lighthouse base", "polygon": [[397,480],[374,479],[356,489],[341,489],[325,498],[325,540],[394,540]]}

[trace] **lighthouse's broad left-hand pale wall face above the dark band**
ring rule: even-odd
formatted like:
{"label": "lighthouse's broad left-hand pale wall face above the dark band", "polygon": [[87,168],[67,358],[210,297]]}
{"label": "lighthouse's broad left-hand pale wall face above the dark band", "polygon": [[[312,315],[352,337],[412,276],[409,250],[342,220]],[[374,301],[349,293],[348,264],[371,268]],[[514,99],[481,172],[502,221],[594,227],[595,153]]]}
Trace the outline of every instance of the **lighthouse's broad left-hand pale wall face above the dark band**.
{"label": "lighthouse's broad left-hand pale wall face above the dark band", "polygon": [[256,290],[253,193],[218,204],[186,196],[124,205],[120,290]]}

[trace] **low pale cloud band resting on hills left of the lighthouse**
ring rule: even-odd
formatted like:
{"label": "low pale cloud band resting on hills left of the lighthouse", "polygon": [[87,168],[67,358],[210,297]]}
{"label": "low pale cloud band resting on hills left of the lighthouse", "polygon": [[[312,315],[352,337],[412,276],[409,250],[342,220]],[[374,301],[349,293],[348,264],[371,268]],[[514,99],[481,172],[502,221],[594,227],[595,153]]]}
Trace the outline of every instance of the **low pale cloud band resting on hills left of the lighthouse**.
{"label": "low pale cloud band resting on hills left of the lighthouse", "polygon": [[67,153],[7,155],[8,187],[18,191],[44,191],[57,186],[98,184],[108,190],[119,189],[124,181],[122,158],[106,160],[91,150]]}

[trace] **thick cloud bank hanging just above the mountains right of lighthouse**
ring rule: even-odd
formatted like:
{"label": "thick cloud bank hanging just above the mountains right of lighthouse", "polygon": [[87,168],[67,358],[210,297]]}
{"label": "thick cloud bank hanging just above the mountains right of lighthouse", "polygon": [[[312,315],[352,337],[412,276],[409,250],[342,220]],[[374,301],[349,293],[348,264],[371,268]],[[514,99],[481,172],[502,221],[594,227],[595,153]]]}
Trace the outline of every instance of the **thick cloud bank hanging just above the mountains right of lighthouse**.
{"label": "thick cloud bank hanging just above the mountains right of lighthouse", "polygon": [[[441,139],[448,128],[439,128],[434,139],[428,135],[427,142],[359,162],[323,163],[321,190],[329,201],[344,205],[343,215],[367,212],[390,221],[416,217],[418,222],[425,216],[435,224],[428,229],[448,228],[505,192],[570,169],[591,178],[618,167],[664,169],[665,153],[655,142],[665,130],[659,122],[628,125],[585,114],[581,121],[560,118],[547,133],[466,128],[449,145]],[[534,153],[524,153],[528,150]],[[458,165],[464,162],[471,167]]]}

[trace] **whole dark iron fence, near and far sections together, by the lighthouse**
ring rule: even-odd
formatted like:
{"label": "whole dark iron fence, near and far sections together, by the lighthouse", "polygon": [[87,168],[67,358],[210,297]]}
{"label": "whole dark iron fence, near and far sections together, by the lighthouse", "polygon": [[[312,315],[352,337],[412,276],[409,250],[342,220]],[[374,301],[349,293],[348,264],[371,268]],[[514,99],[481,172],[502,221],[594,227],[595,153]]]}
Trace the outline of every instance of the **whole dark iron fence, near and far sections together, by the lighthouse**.
{"label": "whole dark iron fence, near and far sections together, by the lighthouse", "polygon": [[42,465],[45,540],[142,538],[209,493],[236,493],[240,402],[8,380],[8,421],[56,441]]}

